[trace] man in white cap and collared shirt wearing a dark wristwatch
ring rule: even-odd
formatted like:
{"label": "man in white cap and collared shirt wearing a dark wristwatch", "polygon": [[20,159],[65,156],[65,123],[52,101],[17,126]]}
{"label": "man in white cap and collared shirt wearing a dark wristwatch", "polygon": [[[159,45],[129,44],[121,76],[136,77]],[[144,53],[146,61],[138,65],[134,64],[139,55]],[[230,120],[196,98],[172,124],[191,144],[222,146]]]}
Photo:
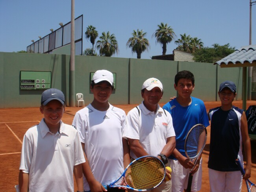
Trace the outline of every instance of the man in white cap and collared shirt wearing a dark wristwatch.
{"label": "man in white cap and collared shirt wearing a dark wristwatch", "polygon": [[[163,85],[156,78],[147,79],[141,89],[143,102],[128,112],[124,138],[128,139],[133,159],[145,155],[160,158],[166,166],[175,148],[172,117],[158,102],[163,96]],[[171,177],[166,169],[169,179]],[[152,192],[171,192],[172,181],[163,182]]]}

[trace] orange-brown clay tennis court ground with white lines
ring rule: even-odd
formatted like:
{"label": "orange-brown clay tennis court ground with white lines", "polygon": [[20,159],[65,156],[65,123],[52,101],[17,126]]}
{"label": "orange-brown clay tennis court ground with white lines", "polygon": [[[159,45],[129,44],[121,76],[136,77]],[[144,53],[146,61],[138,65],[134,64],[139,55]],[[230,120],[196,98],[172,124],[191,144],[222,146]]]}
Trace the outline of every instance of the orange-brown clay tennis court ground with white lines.
{"label": "orange-brown clay tennis court ground with white lines", "polygon": [[[204,102],[206,110],[217,107],[220,102]],[[242,108],[242,101],[234,101],[234,105]],[[161,106],[163,105],[160,104]],[[250,105],[256,105],[256,101],[247,101],[247,108]],[[126,113],[137,105],[115,105],[123,109]],[[76,111],[82,107],[66,107],[63,115],[63,122],[72,124],[72,120]],[[2,171],[0,174],[0,191],[14,192],[14,186],[18,184],[20,151],[24,133],[28,128],[38,124],[43,118],[40,113],[39,107],[33,108],[11,108],[0,109],[0,162],[2,162]],[[210,128],[208,128],[208,140],[203,152],[203,175],[202,175],[202,189],[201,192],[210,191],[208,179],[208,154],[210,143]],[[252,174],[250,180],[256,183],[256,140],[251,140],[251,153],[252,153]],[[221,157],[220,157],[221,158]],[[53,170],[54,173],[54,170]],[[75,191],[77,190],[75,186]],[[242,192],[247,192],[245,182],[243,182]]]}

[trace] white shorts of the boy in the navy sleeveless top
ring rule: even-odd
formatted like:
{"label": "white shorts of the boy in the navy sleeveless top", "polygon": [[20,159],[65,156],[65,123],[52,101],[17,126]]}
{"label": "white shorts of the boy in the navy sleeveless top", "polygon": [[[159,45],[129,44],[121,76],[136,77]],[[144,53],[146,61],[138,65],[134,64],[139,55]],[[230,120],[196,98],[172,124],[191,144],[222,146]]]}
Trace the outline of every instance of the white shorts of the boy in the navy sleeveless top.
{"label": "white shorts of the boy in the navy sleeveless top", "polygon": [[242,175],[240,171],[222,172],[209,168],[211,192],[241,192]]}

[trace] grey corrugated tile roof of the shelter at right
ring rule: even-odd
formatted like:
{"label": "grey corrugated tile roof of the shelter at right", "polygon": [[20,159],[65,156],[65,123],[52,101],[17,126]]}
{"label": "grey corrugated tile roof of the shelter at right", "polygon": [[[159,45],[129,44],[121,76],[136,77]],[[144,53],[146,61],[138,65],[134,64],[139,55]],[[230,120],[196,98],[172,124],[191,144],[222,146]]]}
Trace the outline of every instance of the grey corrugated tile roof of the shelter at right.
{"label": "grey corrugated tile roof of the shelter at right", "polygon": [[244,63],[256,62],[256,45],[243,46],[240,49],[237,49],[234,53],[224,57],[223,59],[213,63],[221,64],[244,64]]}

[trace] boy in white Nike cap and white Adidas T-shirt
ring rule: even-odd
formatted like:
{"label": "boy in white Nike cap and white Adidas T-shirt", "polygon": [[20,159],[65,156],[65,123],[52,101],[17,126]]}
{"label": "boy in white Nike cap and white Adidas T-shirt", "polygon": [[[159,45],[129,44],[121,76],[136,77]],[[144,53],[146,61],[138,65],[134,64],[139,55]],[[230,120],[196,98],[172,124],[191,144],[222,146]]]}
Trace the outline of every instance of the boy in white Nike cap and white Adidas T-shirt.
{"label": "boy in white Nike cap and white Adidas T-shirt", "polygon": [[124,171],[124,165],[130,163],[128,142],[122,138],[126,114],[108,103],[113,91],[111,72],[96,71],[90,89],[93,102],[76,113],[72,125],[78,130],[85,153],[84,190],[106,191],[103,185],[115,181]]}

